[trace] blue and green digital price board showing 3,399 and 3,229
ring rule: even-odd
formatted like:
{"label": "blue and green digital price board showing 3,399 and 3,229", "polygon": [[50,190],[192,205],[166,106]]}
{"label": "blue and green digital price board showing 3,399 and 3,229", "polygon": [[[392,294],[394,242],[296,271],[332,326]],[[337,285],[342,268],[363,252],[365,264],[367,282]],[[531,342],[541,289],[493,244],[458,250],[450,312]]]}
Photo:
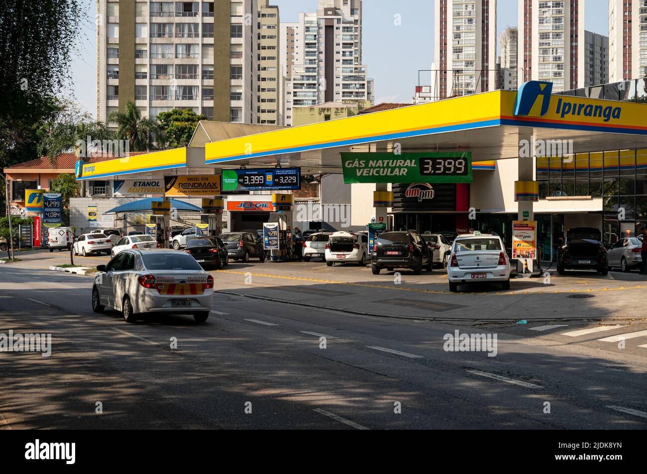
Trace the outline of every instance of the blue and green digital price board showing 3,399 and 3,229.
{"label": "blue and green digital price board showing 3,399 and 3,229", "polygon": [[223,169],[223,192],[301,189],[301,168]]}

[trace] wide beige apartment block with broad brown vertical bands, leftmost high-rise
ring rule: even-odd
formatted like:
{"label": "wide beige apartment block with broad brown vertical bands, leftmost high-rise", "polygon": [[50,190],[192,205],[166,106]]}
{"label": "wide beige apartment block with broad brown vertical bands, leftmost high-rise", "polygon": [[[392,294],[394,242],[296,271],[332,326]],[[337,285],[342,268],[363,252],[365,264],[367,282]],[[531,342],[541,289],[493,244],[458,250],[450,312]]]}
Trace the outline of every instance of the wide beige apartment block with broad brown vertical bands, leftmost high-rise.
{"label": "wide beige apartment block with broad brown vertical bands, leftmost high-rise", "polygon": [[133,101],[151,118],[258,122],[258,0],[97,0],[96,12],[98,120]]}

